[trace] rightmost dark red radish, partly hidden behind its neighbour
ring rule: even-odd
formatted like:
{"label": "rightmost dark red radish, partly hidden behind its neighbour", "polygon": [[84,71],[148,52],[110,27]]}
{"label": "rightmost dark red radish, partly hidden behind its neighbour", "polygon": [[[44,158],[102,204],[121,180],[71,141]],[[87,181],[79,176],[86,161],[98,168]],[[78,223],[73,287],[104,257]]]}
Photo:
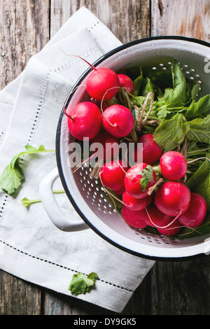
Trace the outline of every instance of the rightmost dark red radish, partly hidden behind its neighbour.
{"label": "rightmost dark red radish, partly hidden behind its neighbour", "polygon": [[202,195],[191,193],[188,210],[179,216],[179,222],[188,228],[196,228],[201,225],[207,214],[207,202]]}

